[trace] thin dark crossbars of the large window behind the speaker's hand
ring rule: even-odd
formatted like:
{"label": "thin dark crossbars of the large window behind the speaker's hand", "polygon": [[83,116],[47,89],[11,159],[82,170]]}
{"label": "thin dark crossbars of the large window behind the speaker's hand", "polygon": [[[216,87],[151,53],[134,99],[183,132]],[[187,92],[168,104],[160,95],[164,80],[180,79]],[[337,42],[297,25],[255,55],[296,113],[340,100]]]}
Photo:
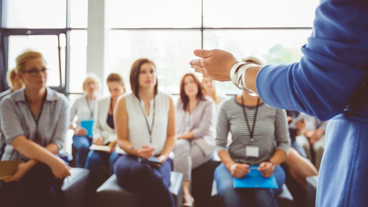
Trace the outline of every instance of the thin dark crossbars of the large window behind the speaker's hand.
{"label": "thin dark crossbars of the large window behind the speaker's hand", "polygon": [[[188,30],[188,29],[195,29],[195,30],[198,30],[200,29],[201,30],[201,49],[204,49],[203,46],[204,46],[204,31],[205,30],[212,30],[212,29],[215,29],[215,30],[238,30],[238,29],[242,29],[242,30],[253,30],[253,29],[256,29],[256,30],[294,30],[294,29],[308,29],[308,30],[311,30],[312,27],[204,27],[204,16],[203,16],[203,1],[204,0],[201,0],[201,16],[202,16],[202,19],[201,19],[201,27],[193,27],[193,28],[166,28],[166,27],[162,27],[162,28],[110,28],[110,31],[116,31],[116,30],[160,30],[160,29],[163,29],[163,30]],[[229,93],[227,91],[226,95],[236,95],[237,92],[234,91],[232,93]],[[178,94],[172,94],[172,95],[178,95]]]}

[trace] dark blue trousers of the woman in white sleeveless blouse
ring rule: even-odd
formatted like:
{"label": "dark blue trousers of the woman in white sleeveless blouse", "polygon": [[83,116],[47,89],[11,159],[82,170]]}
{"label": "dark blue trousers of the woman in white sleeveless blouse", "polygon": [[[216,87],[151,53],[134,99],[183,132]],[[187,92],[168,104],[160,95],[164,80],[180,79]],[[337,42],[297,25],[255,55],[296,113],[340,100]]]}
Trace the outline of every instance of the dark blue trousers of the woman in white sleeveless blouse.
{"label": "dark blue trousers of the woman in white sleeveless blouse", "polygon": [[120,187],[137,195],[139,207],[175,207],[169,190],[171,159],[160,167],[141,164],[137,157],[121,155],[114,164]]}

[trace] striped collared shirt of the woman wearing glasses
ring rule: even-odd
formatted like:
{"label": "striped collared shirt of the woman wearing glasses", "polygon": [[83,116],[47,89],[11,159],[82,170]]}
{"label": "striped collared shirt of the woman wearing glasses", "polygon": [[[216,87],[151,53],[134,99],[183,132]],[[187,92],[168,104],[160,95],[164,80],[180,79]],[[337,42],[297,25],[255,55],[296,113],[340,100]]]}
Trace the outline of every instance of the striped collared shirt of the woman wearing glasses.
{"label": "striped collared shirt of the woman wearing glasses", "polygon": [[[51,143],[56,144],[59,149],[63,146],[69,127],[68,99],[48,87],[46,90],[46,101],[38,124],[38,138],[35,138],[36,123],[25,101],[24,89],[15,91],[1,100],[1,130],[6,143],[2,160],[20,158],[22,161],[28,161],[28,158],[19,152],[11,157],[13,151],[11,143],[19,136],[25,136],[42,147]],[[38,115],[35,116],[38,117]]]}

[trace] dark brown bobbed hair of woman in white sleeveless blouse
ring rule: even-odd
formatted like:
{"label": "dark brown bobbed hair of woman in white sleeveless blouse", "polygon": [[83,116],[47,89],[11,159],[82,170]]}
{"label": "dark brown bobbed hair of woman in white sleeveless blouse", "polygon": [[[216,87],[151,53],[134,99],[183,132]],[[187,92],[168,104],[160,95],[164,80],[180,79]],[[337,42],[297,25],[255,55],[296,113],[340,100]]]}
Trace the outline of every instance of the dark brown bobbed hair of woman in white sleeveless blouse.
{"label": "dark brown bobbed hair of woman in white sleeveless blouse", "polygon": [[[141,58],[136,60],[131,69],[130,69],[130,88],[133,92],[133,94],[138,97],[138,91],[139,91],[139,82],[138,82],[138,77],[139,77],[139,71],[141,71],[141,66],[145,63],[151,63],[156,71],[156,65],[155,63],[153,63],[152,60],[146,59],[146,58]],[[156,85],[155,85],[155,95],[157,94],[158,91],[158,80],[157,80],[157,76],[156,76]]]}

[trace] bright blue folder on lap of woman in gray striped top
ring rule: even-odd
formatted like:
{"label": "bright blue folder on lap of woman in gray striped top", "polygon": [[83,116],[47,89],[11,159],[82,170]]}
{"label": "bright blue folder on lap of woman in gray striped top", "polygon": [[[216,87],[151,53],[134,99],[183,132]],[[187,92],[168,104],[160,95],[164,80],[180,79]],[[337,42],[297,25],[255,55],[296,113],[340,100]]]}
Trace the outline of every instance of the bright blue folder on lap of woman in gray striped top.
{"label": "bright blue folder on lap of woman in gray striped top", "polygon": [[275,175],[264,178],[258,171],[258,167],[258,165],[250,165],[251,172],[247,173],[244,178],[233,178],[234,188],[279,188]]}

